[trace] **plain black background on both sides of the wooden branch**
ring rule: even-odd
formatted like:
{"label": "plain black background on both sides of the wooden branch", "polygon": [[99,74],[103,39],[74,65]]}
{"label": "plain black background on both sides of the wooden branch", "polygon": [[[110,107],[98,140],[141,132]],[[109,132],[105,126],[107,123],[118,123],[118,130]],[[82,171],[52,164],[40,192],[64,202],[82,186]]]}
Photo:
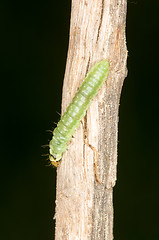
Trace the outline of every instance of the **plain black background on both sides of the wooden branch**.
{"label": "plain black background on both sides of the wooden branch", "polygon": [[[59,120],[70,1],[0,3],[3,240],[54,239],[56,171],[41,145]],[[128,1],[115,239],[159,239],[158,0]]]}

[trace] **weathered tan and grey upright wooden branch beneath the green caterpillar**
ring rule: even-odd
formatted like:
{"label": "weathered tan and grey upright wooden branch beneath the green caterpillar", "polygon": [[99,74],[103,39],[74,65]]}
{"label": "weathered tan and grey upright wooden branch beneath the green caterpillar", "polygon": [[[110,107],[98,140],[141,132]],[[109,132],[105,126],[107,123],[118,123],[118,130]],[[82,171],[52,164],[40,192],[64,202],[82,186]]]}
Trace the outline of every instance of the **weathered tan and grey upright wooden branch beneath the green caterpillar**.
{"label": "weathered tan and grey upright wooden branch beneath the green caterpillar", "polygon": [[[72,0],[62,112],[87,71],[110,62],[105,86],[93,100],[57,169],[56,240],[112,240],[118,107],[126,77],[126,0]],[[98,151],[98,175],[94,152]]]}

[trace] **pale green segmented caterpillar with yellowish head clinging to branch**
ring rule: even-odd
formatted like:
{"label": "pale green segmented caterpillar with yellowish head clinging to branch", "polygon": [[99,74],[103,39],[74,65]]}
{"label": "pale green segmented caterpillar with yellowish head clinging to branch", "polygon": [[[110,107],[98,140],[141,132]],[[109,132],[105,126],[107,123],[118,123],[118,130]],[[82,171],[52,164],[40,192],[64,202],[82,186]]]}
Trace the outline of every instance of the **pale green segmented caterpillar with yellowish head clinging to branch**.
{"label": "pale green segmented caterpillar with yellowish head clinging to branch", "polygon": [[102,60],[96,63],[86,75],[72,102],[62,115],[57,127],[53,131],[49,143],[49,159],[51,164],[59,166],[62,154],[66,151],[76,128],[85,116],[91,100],[97,95],[109,73],[109,62]]}

